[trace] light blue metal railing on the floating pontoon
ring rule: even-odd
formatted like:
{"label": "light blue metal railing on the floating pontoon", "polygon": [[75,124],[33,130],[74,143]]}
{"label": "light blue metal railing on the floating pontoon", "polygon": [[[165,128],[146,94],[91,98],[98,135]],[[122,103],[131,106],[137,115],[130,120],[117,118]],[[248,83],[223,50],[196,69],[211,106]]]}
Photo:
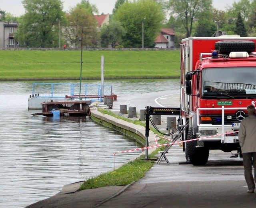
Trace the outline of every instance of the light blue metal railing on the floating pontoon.
{"label": "light blue metal railing on the floating pontoon", "polygon": [[65,98],[81,97],[82,99],[90,98],[102,101],[104,95],[112,95],[112,85],[97,84],[80,84],[76,83],[33,83],[33,97]]}

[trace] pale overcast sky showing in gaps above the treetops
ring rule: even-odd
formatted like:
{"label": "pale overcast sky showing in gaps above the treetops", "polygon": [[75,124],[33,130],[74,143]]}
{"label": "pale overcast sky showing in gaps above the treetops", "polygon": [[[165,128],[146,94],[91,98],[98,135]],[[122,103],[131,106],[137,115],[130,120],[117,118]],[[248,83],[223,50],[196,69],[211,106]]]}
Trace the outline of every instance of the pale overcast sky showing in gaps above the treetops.
{"label": "pale overcast sky showing in gaps above the treetops", "polygon": [[[212,5],[218,10],[225,10],[225,7],[232,5],[240,0],[212,0]],[[14,16],[24,14],[25,10],[22,6],[22,0],[0,0],[0,9]],[[68,12],[70,7],[76,6],[81,0],[62,0],[64,11]],[[116,0],[89,0],[90,4],[95,4],[99,10],[99,14],[112,14]]]}

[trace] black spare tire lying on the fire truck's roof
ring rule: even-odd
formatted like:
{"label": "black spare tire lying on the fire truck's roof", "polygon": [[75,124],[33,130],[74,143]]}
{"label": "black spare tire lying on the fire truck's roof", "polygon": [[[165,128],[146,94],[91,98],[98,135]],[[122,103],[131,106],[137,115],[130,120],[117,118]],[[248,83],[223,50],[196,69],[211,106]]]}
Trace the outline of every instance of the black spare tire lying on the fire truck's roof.
{"label": "black spare tire lying on the fire truck's roof", "polygon": [[221,40],[215,43],[215,50],[222,54],[230,52],[248,52],[255,51],[255,42],[250,40]]}

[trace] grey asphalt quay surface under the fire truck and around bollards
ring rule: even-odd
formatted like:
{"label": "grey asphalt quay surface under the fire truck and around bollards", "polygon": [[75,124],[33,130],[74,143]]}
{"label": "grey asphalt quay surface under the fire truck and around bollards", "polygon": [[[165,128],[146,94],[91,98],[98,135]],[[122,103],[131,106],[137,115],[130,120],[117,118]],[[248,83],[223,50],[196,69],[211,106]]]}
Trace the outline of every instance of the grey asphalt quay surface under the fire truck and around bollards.
{"label": "grey asphalt quay surface under the fire truck and around bollards", "polygon": [[[170,103],[175,101],[176,97],[177,95],[168,95],[158,101]],[[113,111],[117,110],[114,106],[118,108],[119,104],[124,103],[114,101]],[[124,121],[120,121],[122,122]],[[164,127],[165,118],[159,128]],[[149,140],[152,142],[154,138],[150,136]],[[236,157],[236,153],[210,151],[205,166],[193,166],[186,163],[182,147],[174,145],[166,157],[170,163],[162,160],[159,164],[154,164],[138,182],[127,186],[108,186],[82,191],[78,191],[81,182],[68,184],[58,194],[27,208],[256,207],[256,194],[246,192],[242,158]]]}

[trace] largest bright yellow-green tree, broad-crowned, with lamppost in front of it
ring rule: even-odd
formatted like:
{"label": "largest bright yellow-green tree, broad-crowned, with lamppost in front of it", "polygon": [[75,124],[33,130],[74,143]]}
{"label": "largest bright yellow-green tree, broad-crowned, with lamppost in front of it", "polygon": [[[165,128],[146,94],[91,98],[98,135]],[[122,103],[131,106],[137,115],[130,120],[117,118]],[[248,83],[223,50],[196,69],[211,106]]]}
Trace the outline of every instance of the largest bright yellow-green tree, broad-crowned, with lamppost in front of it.
{"label": "largest bright yellow-green tree, broad-crowned, with lamppost in front of it", "polygon": [[124,47],[142,47],[142,22],[144,25],[144,46],[154,44],[157,33],[160,32],[164,13],[155,0],[126,1],[116,11],[113,20],[122,23],[126,34],[122,38]]}

